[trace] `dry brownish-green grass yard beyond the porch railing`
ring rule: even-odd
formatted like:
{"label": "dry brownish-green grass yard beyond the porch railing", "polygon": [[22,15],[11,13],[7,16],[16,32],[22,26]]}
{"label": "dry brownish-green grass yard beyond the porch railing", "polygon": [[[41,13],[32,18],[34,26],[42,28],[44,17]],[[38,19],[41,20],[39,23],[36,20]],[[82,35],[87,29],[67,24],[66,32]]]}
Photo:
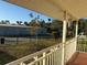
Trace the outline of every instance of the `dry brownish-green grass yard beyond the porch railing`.
{"label": "dry brownish-green grass yard beyond the porch railing", "polygon": [[[37,43],[36,43],[37,42]],[[0,65],[4,65],[6,63],[12,62],[36,51],[43,50],[51,45],[57,44],[61,42],[59,40],[54,39],[41,39],[37,41],[30,41],[30,43],[21,43],[21,44],[1,44],[0,45]]]}

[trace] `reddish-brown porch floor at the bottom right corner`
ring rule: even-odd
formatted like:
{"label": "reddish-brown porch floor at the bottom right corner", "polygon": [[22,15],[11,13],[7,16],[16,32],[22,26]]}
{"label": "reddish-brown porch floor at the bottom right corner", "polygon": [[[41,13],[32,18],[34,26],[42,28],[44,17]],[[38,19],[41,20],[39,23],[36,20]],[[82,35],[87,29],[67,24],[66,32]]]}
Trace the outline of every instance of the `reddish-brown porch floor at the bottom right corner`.
{"label": "reddish-brown porch floor at the bottom right corner", "polygon": [[75,53],[66,65],[87,65],[87,53]]}

